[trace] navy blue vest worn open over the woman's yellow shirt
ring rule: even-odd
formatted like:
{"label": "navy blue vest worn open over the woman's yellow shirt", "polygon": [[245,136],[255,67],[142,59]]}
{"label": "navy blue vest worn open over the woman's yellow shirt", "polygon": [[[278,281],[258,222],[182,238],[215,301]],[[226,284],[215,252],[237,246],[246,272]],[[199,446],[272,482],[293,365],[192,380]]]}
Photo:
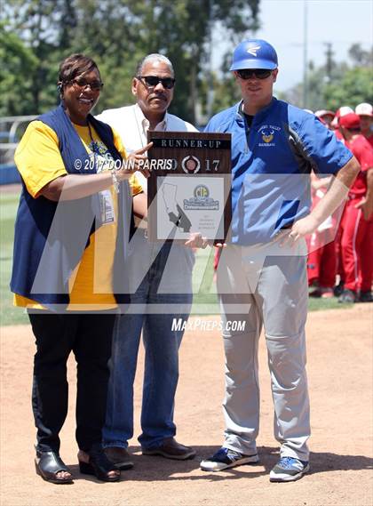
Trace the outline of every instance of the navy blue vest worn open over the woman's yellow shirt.
{"label": "navy blue vest worn open over the woman's yellow shirt", "polygon": [[[60,154],[67,173],[96,173],[89,164],[89,155],[74,125],[60,105],[37,118],[54,130],[59,139]],[[115,148],[109,125],[93,116],[88,122],[98,133],[114,160],[122,161]],[[76,164],[80,160],[80,164]],[[79,167],[79,168],[76,168]],[[86,168],[88,167],[88,170]],[[89,245],[91,233],[100,226],[99,196],[53,202],[43,196],[34,198],[22,181],[20,205],[15,222],[11,290],[48,309],[67,307],[68,280]],[[115,248],[115,275],[124,276],[124,243],[131,231],[131,189],[127,181],[121,183],[118,201],[118,235]],[[122,293],[125,279],[115,277],[114,293]],[[127,297],[116,296],[118,302]],[[61,306],[62,305],[62,306]]]}

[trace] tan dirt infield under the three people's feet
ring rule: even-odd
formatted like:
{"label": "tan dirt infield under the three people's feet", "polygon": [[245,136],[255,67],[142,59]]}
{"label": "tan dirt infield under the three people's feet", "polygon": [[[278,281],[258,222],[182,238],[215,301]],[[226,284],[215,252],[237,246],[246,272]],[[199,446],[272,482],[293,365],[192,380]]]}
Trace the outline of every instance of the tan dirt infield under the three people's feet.
{"label": "tan dirt infield under the three people's feet", "polygon": [[[131,441],[135,468],[122,481],[102,484],[78,473],[74,439],[75,367],[69,367],[70,411],[61,455],[75,484],[55,486],[36,476],[35,430],[30,408],[34,353],[29,326],[1,329],[1,504],[2,506],[370,506],[372,493],[372,317],[373,304],[311,313],[308,317],[308,376],[312,402],[312,472],[290,484],[270,484],[277,459],[272,436],[272,400],[264,340],[261,463],[221,473],[199,470],[203,456],[222,442],[223,349],[216,332],[187,333],[180,353],[176,402],[178,439],[197,450],[192,461],[145,457]],[[139,363],[142,363],[142,355]],[[140,378],[136,414],[139,418]],[[139,434],[139,424],[136,428]]]}

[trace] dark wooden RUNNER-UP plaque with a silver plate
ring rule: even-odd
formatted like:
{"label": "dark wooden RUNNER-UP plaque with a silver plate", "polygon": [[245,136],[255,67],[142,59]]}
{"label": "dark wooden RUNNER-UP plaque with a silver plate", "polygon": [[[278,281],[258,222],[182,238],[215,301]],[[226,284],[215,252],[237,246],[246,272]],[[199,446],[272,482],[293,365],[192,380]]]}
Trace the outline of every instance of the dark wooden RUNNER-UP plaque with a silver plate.
{"label": "dark wooden RUNNER-UP plaque with a silver plate", "polygon": [[226,241],[231,224],[231,134],[147,133],[148,237],[185,241],[192,232]]}

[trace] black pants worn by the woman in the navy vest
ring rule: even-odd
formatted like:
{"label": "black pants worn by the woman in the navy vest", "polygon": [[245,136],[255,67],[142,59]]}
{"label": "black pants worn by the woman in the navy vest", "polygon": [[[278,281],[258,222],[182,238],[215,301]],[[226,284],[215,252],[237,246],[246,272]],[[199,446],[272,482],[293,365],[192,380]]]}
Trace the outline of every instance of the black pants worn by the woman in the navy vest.
{"label": "black pants worn by the woman in the navy vest", "polygon": [[36,337],[32,406],[37,449],[60,451],[59,433],[67,416],[67,357],[77,363],[76,441],[89,450],[101,441],[107,406],[107,361],[111,355],[113,313],[28,315]]}

